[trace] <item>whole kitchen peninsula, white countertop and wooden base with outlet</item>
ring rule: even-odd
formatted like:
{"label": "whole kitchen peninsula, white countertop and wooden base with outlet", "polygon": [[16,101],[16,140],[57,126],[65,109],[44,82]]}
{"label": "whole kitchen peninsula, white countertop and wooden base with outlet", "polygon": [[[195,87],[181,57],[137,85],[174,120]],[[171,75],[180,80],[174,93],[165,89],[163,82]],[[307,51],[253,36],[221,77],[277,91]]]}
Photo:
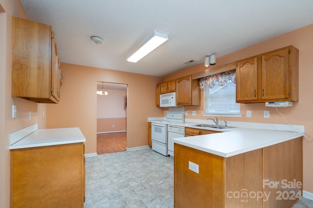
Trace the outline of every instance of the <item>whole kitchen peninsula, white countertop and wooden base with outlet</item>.
{"label": "whole kitchen peninsula, white countertop and wooden base with outlet", "polygon": [[233,128],[174,142],[175,207],[289,208],[302,197],[301,133]]}

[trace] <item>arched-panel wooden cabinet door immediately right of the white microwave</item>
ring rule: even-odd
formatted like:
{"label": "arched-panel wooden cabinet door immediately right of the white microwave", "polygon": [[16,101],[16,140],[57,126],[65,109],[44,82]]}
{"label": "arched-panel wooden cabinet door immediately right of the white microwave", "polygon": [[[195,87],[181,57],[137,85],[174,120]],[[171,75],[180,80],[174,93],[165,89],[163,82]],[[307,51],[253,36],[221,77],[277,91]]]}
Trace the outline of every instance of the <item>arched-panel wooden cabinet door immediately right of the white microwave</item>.
{"label": "arched-panel wooden cabinet door immediately right of the white microwave", "polygon": [[177,81],[177,105],[191,105],[191,76],[181,77]]}

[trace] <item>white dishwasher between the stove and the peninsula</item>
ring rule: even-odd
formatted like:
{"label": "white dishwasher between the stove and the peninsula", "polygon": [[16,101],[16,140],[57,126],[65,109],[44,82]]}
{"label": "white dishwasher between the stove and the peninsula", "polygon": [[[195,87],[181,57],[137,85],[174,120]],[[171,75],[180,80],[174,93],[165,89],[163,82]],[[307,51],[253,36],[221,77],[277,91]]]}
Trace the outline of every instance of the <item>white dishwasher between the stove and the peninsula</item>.
{"label": "white dishwasher between the stove and the peninsula", "polygon": [[167,125],[168,154],[174,158],[174,141],[175,138],[185,137],[185,127]]}

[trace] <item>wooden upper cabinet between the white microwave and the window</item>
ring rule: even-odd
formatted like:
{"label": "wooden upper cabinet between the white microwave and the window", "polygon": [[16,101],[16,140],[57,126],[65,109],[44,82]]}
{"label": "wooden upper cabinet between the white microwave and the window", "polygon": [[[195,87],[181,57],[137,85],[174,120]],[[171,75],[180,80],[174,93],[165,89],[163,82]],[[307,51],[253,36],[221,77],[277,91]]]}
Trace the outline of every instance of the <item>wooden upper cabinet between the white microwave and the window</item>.
{"label": "wooden upper cabinet between the white microwave and the window", "polygon": [[176,79],[177,105],[200,105],[199,79],[192,79],[191,76],[184,76]]}

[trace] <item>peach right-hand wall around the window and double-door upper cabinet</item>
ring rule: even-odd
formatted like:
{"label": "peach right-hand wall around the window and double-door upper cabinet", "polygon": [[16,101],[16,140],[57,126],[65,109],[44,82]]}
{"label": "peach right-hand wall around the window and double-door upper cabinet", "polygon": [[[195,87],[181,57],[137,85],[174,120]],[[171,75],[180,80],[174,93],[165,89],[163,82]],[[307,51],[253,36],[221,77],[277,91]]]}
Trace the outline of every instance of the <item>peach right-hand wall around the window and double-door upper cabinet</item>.
{"label": "peach right-hand wall around the window and double-door upper cabinet", "polygon": [[[216,60],[217,65],[223,65],[236,60],[240,60],[246,57],[251,57],[257,54],[282,48],[288,45],[293,45],[299,49],[299,102],[293,102],[293,106],[289,108],[280,108],[279,111],[284,114],[286,120],[290,124],[294,125],[305,125],[305,130],[307,133],[313,135],[313,96],[312,96],[312,55],[313,55],[313,24],[298,30],[292,31],[290,33],[281,35],[276,38],[269,39],[267,41],[252,45],[240,51],[236,51],[232,54],[228,54],[224,57],[219,57]],[[204,61],[204,58],[203,58]],[[210,67],[212,68],[212,66]],[[178,73],[172,74],[170,76],[164,77],[164,81],[172,80],[181,76],[194,74],[203,71],[207,68],[200,64],[198,66],[180,71]],[[203,95],[201,93],[201,103],[203,103]],[[243,117],[231,118],[231,117],[221,117],[220,120],[230,120],[230,121],[246,121],[246,122],[260,122],[269,123],[268,118],[263,118],[263,111],[269,110],[272,118],[272,123],[284,123],[281,115],[279,115],[275,108],[265,107],[264,103],[251,103],[251,104],[241,104],[241,113]],[[246,111],[252,112],[252,117],[246,117]],[[186,118],[198,118],[206,119],[201,113],[203,113],[203,104],[197,107],[185,107],[185,111],[196,111],[196,116],[192,113],[188,113]],[[313,193],[313,142],[304,139],[303,142],[303,155],[304,155],[304,185],[303,188],[306,191]]]}

